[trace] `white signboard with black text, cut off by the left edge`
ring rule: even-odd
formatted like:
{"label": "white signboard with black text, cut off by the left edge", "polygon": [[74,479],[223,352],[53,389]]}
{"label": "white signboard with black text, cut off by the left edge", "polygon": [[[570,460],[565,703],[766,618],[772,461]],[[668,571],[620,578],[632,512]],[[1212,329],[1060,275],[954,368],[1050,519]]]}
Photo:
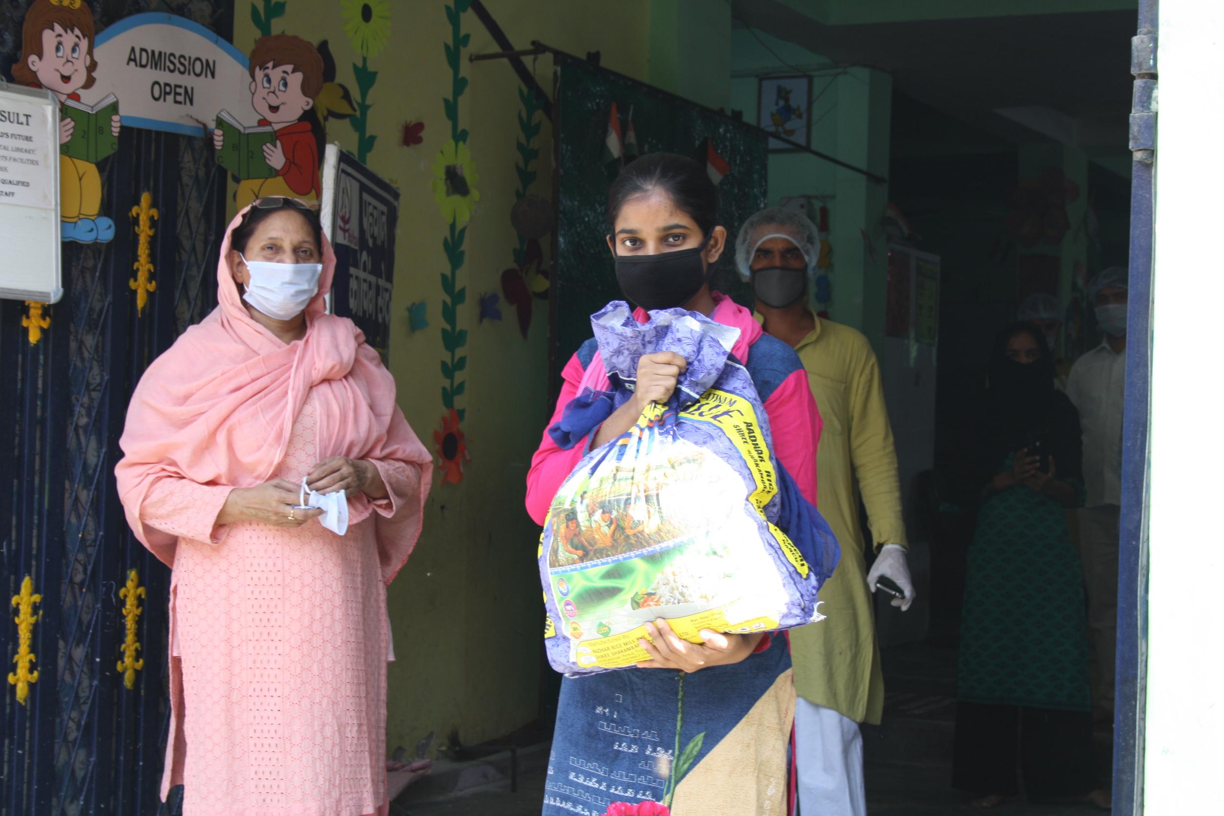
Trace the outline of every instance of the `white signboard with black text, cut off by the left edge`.
{"label": "white signboard with black text, cut off by the left edge", "polygon": [[0,86],[0,297],[54,303],[60,276],[60,105]]}

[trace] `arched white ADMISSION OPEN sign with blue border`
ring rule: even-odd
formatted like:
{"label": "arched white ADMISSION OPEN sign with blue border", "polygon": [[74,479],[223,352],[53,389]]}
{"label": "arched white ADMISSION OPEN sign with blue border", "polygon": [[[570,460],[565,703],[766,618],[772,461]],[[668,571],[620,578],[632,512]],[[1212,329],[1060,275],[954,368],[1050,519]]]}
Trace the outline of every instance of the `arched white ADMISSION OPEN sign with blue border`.
{"label": "arched white ADMISSION OPEN sign with blue border", "polygon": [[97,82],[86,102],[119,98],[126,127],[209,138],[222,110],[255,125],[247,55],[200,23],[174,15],[132,15],[98,33]]}

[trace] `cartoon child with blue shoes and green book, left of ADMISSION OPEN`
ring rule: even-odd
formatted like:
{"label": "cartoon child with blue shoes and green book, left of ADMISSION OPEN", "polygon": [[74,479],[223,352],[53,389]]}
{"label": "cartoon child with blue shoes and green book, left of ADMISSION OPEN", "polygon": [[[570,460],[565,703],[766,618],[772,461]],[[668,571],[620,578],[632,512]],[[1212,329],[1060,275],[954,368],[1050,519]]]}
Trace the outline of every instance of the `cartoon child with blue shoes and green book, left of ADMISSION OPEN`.
{"label": "cartoon child with blue shoes and green book, left of ADMISSION OPEN", "polygon": [[21,61],[12,77],[47,88],[60,100],[60,236],[93,243],[115,236],[115,223],[100,214],[102,176],[97,163],[119,147],[119,103],[106,97],[81,103],[93,87],[93,12],[82,0],[33,0],[21,28]]}

